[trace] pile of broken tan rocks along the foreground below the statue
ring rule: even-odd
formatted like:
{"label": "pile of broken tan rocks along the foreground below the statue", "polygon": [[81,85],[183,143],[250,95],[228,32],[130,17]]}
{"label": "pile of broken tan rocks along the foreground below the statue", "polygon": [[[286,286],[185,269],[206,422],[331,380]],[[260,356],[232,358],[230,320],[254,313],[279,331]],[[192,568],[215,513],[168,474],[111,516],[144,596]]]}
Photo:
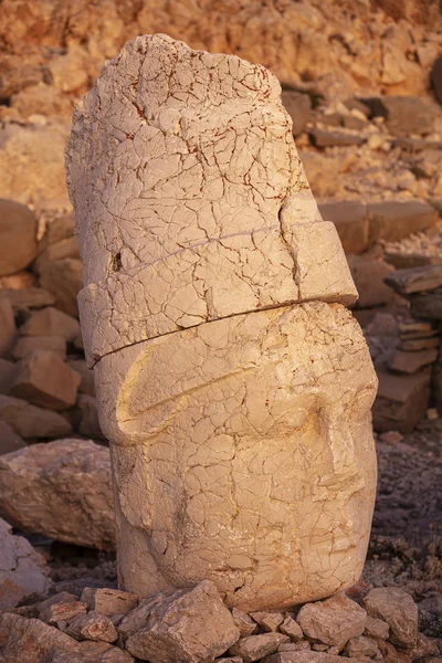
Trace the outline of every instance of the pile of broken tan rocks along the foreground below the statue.
{"label": "pile of broken tan rocks along the foreground below the statue", "polygon": [[84,588],[0,614],[4,663],[439,663],[418,608],[397,588],[345,593],[287,612],[229,610],[204,580],[172,594]]}

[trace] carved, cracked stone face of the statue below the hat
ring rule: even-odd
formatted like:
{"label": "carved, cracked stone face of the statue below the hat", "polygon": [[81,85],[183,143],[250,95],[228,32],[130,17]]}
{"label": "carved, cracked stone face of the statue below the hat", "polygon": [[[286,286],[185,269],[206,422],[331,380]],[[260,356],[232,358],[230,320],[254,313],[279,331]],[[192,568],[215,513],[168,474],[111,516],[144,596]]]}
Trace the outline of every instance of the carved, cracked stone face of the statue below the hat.
{"label": "carved, cracked stone face of the statue below the hat", "polygon": [[234,316],[110,354],[95,372],[128,589],[210,578],[230,606],[260,610],[358,579],[377,382],[345,308]]}

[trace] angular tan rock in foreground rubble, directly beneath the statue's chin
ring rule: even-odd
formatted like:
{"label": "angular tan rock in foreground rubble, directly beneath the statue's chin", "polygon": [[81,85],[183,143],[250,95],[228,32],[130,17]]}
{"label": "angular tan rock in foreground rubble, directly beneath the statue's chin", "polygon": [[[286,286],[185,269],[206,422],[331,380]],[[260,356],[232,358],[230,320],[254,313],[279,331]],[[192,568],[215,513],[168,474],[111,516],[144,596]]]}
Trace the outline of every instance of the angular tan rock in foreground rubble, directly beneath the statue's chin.
{"label": "angular tan rock in foreground rubble, directly beneath the statue's chin", "polygon": [[307,603],[296,621],[314,641],[344,649],[351,638],[362,635],[367,612],[345,594],[317,603]]}

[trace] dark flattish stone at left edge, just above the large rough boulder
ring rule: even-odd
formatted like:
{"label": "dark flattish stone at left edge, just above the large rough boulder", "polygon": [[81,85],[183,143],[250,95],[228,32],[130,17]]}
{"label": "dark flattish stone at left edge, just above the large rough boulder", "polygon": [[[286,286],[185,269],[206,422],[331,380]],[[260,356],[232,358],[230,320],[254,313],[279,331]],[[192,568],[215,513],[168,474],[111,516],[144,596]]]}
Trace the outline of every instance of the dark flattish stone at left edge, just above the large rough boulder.
{"label": "dark flattish stone at left edge, just above the large rough boulder", "polygon": [[43,408],[31,406],[12,396],[0,394],[0,419],[21,438],[61,438],[72,433],[70,422]]}

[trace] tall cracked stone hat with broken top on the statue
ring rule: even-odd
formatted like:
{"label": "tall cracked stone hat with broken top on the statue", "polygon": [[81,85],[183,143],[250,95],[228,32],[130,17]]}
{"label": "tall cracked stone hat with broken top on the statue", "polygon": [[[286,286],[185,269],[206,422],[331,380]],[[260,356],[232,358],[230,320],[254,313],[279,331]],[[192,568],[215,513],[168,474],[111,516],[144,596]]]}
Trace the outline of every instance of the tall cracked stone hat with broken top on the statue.
{"label": "tall cracked stone hat with broken top on the statue", "polygon": [[229,315],[356,299],[261,65],[137,38],[77,108],[67,172],[91,362]]}

